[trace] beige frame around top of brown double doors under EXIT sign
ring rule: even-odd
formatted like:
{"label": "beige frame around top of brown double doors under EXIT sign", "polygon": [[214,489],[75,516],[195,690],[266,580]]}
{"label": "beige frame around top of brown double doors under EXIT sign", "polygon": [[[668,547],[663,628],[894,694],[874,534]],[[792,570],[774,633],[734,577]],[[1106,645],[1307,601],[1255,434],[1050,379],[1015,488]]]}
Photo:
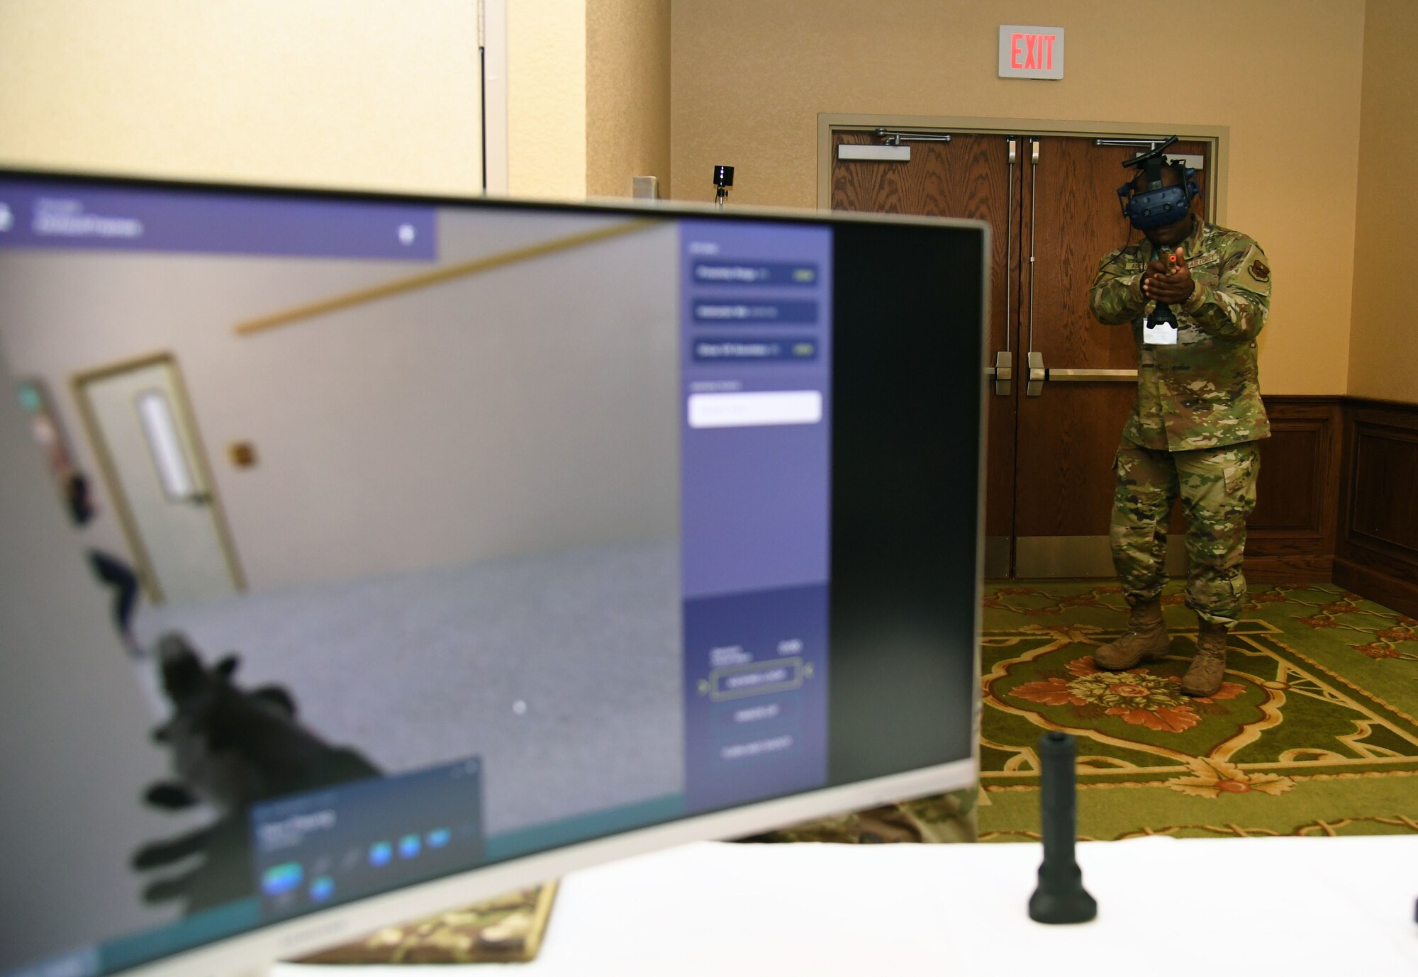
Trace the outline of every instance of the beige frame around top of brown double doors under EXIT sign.
{"label": "beige frame around top of brown double doors under EXIT sign", "polygon": [[[1207,189],[1211,206],[1205,220],[1227,221],[1227,167],[1231,162],[1231,126],[1159,125],[1156,122],[1085,122],[1072,119],[1005,119],[950,115],[817,113],[817,207],[832,208],[832,132],[835,129],[910,129],[984,133],[1000,136],[1082,136],[1085,139],[1136,138],[1164,133],[1211,146]],[[1122,183],[1122,180],[1119,180]]]}

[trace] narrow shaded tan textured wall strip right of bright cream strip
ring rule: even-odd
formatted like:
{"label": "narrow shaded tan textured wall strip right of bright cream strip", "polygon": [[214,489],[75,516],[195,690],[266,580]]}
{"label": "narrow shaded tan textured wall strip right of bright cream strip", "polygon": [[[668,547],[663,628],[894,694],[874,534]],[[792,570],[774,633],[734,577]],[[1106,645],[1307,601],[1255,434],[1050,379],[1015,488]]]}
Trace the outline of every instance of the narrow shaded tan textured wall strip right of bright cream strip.
{"label": "narrow shaded tan textured wall strip right of bright cream strip", "polygon": [[586,1],[586,193],[669,196],[669,0]]}

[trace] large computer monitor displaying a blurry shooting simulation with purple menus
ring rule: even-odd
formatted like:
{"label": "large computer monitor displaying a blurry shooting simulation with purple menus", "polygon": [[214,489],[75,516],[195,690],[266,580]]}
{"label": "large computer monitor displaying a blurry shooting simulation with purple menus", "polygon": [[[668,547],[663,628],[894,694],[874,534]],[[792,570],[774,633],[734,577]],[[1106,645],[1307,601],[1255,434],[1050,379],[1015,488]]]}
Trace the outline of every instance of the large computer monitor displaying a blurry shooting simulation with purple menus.
{"label": "large computer monitor displaying a blurry shooting simulation with purple menus", "polygon": [[0,173],[0,974],[971,783],[987,248]]}

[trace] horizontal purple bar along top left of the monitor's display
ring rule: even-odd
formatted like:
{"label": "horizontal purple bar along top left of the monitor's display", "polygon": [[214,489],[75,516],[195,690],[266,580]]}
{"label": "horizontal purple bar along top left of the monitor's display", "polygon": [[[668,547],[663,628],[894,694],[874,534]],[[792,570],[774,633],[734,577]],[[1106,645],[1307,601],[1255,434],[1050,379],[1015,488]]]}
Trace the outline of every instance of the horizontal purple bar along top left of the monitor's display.
{"label": "horizontal purple bar along top left of the monitor's display", "polygon": [[437,258],[434,208],[357,199],[0,182],[0,248]]}

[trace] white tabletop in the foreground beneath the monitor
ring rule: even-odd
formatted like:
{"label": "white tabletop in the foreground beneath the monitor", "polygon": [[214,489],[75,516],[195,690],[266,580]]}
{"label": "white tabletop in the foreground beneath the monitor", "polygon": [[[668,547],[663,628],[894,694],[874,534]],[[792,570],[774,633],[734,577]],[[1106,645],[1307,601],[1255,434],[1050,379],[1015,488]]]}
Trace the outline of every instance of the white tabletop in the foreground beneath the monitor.
{"label": "white tabletop in the foreground beneath the monitor", "polygon": [[[569,875],[539,959],[484,977],[1418,974],[1418,838],[1078,847],[1098,919],[1042,926],[1035,844],[700,842]],[[464,968],[459,968],[464,970]],[[447,974],[438,967],[437,974]],[[282,964],[272,977],[352,977]],[[359,967],[353,977],[408,977]]]}

